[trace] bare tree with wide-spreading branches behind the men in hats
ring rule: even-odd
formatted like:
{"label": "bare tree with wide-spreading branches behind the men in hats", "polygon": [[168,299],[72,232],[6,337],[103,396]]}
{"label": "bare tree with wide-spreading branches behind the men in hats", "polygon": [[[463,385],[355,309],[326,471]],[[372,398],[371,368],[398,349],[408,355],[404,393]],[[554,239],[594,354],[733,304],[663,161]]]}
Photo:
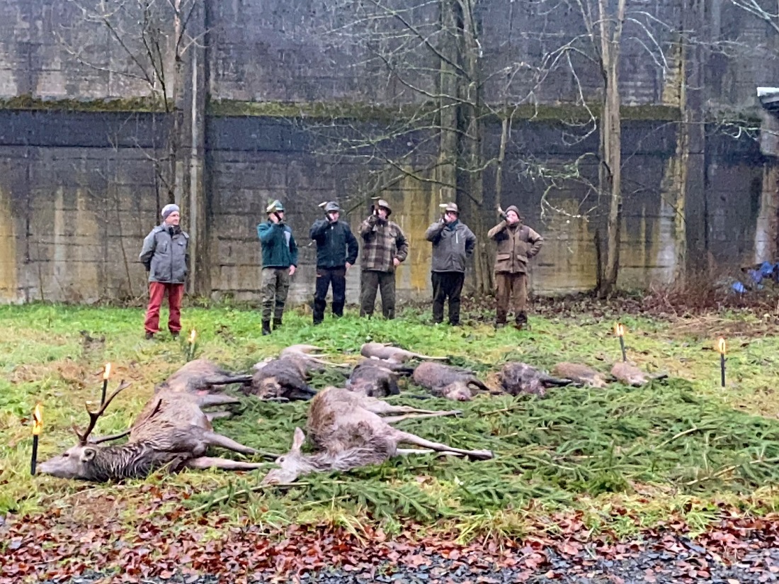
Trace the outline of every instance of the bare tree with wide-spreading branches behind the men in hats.
{"label": "bare tree with wide-spreading branches behind the men in hats", "polygon": [[[355,208],[407,181],[432,193],[421,210],[429,217],[439,202],[456,200],[479,241],[475,287],[491,291],[486,233],[499,200],[490,204],[485,196],[484,175],[493,167],[502,172],[502,158],[486,151],[485,125],[505,120],[505,156],[511,115],[487,99],[485,87],[519,66],[485,71],[478,0],[329,0],[327,10],[330,18],[319,30],[323,44],[353,55],[348,66],[375,88],[368,100],[397,115],[365,123],[354,121],[348,106],[334,111],[326,122],[308,125],[324,139],[320,154],[365,163]],[[513,75],[505,78],[508,85]]]}

